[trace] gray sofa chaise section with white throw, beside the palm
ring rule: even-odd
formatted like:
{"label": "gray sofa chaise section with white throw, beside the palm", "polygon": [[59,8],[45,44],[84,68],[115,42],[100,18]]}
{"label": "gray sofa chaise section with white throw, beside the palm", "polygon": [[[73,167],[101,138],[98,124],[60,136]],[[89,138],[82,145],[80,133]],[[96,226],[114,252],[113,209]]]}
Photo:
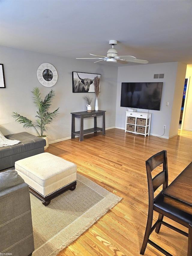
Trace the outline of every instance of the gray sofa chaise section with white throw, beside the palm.
{"label": "gray sofa chaise section with white throw, beside the palm", "polygon": [[20,132],[5,136],[9,140],[20,140],[19,144],[0,147],[0,170],[13,167],[15,161],[44,152],[46,141],[43,138]]}

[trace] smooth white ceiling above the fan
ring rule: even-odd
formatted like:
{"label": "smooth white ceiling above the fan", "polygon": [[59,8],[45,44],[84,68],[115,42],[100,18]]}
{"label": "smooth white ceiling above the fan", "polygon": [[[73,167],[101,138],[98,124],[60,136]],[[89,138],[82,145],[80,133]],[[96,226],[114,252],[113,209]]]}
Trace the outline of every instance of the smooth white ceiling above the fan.
{"label": "smooth white ceiling above the fan", "polygon": [[191,64],[192,1],[0,0],[1,46],[75,59],[106,56],[109,40],[121,56]]}

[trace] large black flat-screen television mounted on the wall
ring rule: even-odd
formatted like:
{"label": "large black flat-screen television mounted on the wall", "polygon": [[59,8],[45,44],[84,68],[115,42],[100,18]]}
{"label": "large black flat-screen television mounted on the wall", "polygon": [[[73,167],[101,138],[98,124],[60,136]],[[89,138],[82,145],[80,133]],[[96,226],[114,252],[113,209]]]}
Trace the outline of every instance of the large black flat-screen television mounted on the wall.
{"label": "large black flat-screen television mounted on the wall", "polygon": [[121,107],[160,110],[163,82],[122,83]]}

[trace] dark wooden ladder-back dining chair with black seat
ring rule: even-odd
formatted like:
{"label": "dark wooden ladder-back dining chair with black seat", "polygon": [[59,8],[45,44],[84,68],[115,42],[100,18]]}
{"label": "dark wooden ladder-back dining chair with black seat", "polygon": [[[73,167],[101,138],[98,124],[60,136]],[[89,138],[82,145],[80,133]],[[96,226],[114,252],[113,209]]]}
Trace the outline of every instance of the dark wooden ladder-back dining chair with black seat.
{"label": "dark wooden ladder-back dining chair with black seat", "polygon": [[[160,171],[155,177],[152,178],[152,171],[160,165],[162,166],[163,170]],[[160,167],[158,167],[158,169],[159,168]],[[146,161],[146,170],[147,170],[147,181],[148,181],[148,190],[149,190],[149,211],[148,211],[148,219],[147,219],[145,236],[143,239],[143,245],[141,247],[140,254],[143,255],[145,253],[147,243],[149,243],[152,246],[154,246],[156,249],[161,251],[163,254],[167,256],[173,256],[169,252],[161,248],[159,245],[152,242],[149,239],[149,236],[154,229],[156,233],[159,233],[161,224],[163,224],[188,237],[188,233],[164,222],[163,217],[166,216],[172,219],[173,221],[176,221],[182,224],[183,226],[189,228],[189,224],[192,222],[192,215],[182,210],[179,210],[167,203],[164,203],[164,196],[162,195],[162,192],[168,186],[168,168],[167,168],[167,151],[166,150],[163,150],[153,155],[152,157],[150,157]],[[161,185],[163,185],[162,191],[154,198],[154,192]],[[152,226],[153,211],[158,212],[159,217],[158,217],[158,220],[155,222],[155,224]],[[189,251],[188,251],[188,255],[192,255],[192,254],[189,254]]]}

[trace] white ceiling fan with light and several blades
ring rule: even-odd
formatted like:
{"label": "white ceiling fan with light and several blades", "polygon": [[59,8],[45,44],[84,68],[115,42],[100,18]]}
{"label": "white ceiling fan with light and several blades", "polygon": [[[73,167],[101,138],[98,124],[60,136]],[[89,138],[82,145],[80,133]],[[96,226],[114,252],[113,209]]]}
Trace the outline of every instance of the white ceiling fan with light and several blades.
{"label": "white ceiling fan with light and several blades", "polygon": [[[118,56],[117,50],[114,48],[114,45],[117,45],[117,40],[110,40],[109,44],[112,45],[112,48],[110,48],[107,51],[107,56],[100,56],[100,55],[95,55],[95,54],[89,53],[90,55],[97,56],[98,58],[76,58],[76,59],[100,59],[96,62],[100,62],[103,60],[106,60],[107,62],[120,61],[120,62],[122,62],[122,64],[127,64],[129,62],[136,62],[136,63],[142,63],[142,64],[148,63],[147,60],[137,59],[134,56]],[[122,59],[122,57],[126,57],[126,59]],[[96,63],[96,62],[94,62],[94,63]]]}

